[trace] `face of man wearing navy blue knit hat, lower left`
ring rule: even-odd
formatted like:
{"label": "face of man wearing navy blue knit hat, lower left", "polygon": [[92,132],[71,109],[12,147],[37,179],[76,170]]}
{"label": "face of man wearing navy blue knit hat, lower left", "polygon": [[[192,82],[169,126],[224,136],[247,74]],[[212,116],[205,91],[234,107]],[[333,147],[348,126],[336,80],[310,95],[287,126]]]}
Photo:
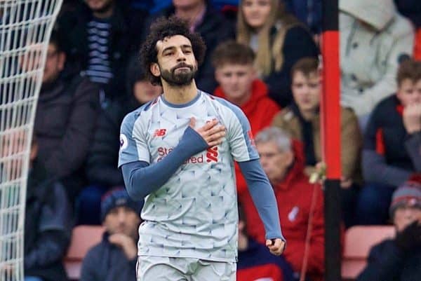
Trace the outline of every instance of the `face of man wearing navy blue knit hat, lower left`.
{"label": "face of man wearing navy blue knit hat, lower left", "polygon": [[140,217],[131,208],[115,207],[105,216],[103,224],[110,235],[123,233],[134,238],[138,231]]}

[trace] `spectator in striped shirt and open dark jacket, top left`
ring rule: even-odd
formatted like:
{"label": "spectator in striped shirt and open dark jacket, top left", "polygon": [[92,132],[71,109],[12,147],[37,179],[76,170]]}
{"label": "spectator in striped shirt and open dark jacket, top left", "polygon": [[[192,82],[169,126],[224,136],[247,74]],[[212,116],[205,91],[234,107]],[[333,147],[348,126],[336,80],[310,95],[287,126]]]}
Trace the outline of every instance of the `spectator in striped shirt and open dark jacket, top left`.
{"label": "spectator in striped shirt and open dark jacket, top left", "polygon": [[147,13],[124,1],[84,0],[58,19],[65,53],[72,65],[84,71],[103,90],[101,104],[122,100],[128,53],[138,50]]}

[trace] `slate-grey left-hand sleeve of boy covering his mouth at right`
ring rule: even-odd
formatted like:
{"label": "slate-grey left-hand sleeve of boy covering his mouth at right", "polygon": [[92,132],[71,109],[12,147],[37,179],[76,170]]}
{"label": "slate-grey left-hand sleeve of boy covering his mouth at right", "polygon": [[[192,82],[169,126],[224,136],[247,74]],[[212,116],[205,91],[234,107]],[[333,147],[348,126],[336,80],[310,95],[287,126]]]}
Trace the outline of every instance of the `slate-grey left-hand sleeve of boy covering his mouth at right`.
{"label": "slate-grey left-hand sleeve of boy covering his mouth at right", "polygon": [[385,157],[370,149],[363,150],[363,176],[365,181],[390,186],[399,186],[406,181],[411,171],[387,165]]}

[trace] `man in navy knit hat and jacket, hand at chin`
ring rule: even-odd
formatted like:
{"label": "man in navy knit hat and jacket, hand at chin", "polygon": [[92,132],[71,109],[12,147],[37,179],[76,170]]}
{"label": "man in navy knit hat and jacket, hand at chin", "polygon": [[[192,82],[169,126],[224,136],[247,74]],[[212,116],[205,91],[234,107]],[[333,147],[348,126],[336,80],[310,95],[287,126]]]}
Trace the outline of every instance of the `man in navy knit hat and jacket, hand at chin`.
{"label": "man in navy knit hat and jacket, hand at chin", "polygon": [[83,259],[81,281],[137,280],[140,209],[142,203],[131,200],[124,189],[105,194],[101,203],[105,233]]}

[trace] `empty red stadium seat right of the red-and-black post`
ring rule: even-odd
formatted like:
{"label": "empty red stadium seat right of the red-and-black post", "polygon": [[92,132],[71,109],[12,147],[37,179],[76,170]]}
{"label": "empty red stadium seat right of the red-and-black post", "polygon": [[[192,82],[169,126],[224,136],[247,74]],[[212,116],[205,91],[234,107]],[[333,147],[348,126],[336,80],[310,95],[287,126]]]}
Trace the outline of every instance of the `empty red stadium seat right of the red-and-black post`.
{"label": "empty red stadium seat right of the red-and-black post", "polygon": [[371,247],[395,235],[394,226],[353,226],[345,233],[342,279],[354,280],[366,266]]}

